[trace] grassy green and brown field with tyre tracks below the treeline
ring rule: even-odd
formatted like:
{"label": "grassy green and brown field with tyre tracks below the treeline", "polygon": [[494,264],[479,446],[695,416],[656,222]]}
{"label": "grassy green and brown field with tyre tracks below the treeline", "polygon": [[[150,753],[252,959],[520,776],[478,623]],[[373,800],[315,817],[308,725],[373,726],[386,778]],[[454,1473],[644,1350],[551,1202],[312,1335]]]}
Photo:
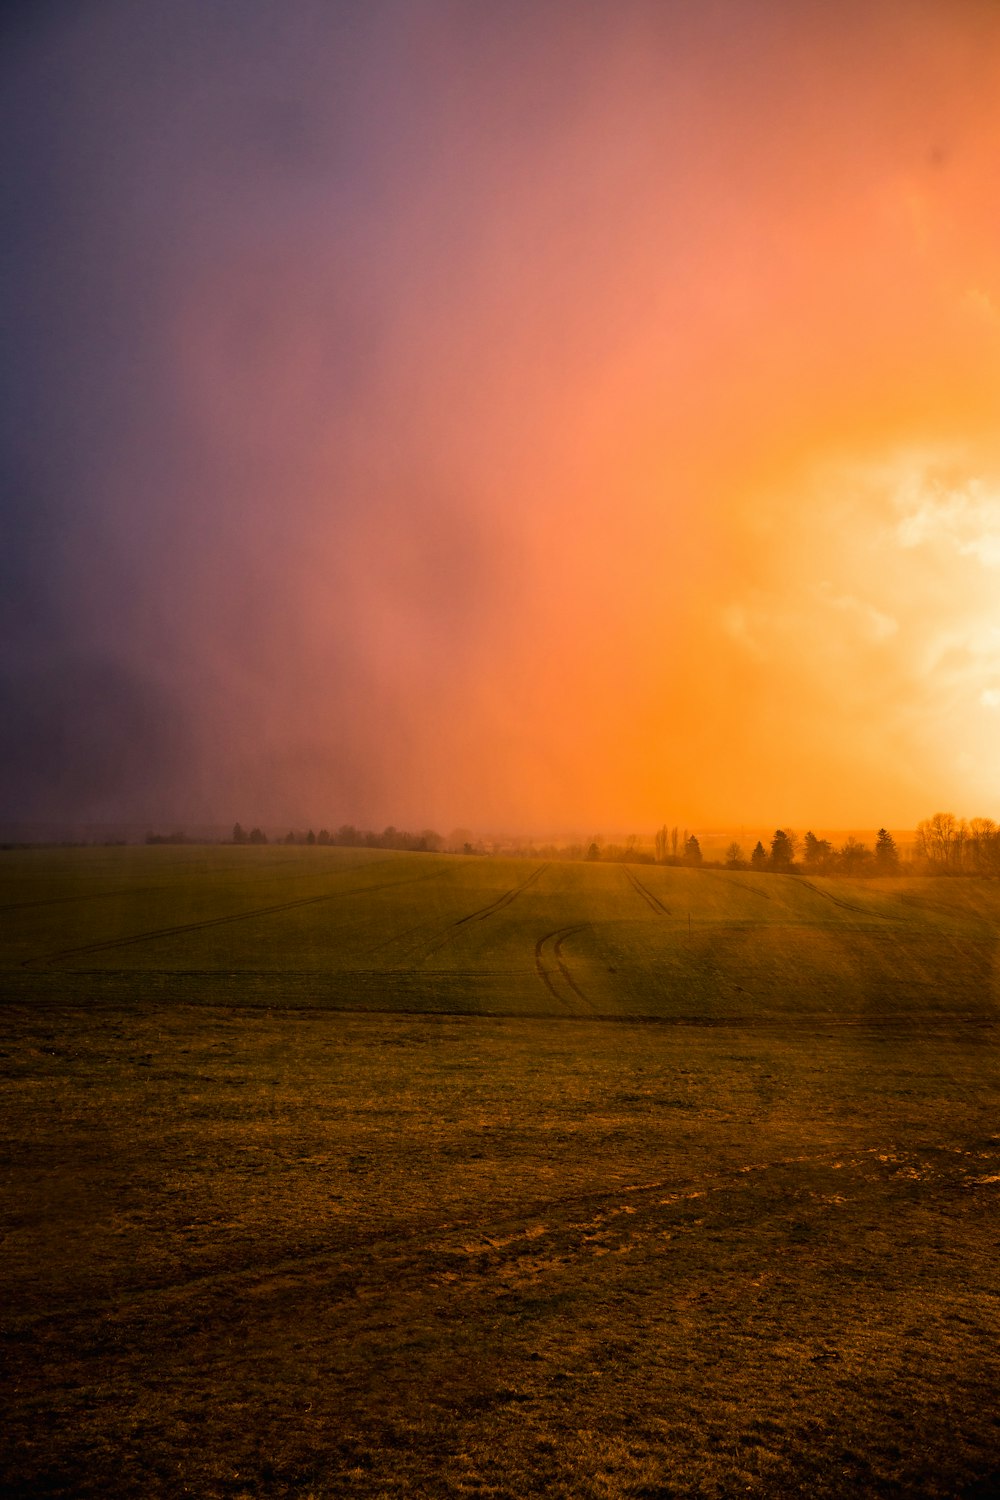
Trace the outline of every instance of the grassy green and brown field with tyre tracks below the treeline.
{"label": "grassy green and brown field with tyre tracks below the treeline", "polygon": [[1000,1492],[1000,885],[0,854],[0,1494]]}

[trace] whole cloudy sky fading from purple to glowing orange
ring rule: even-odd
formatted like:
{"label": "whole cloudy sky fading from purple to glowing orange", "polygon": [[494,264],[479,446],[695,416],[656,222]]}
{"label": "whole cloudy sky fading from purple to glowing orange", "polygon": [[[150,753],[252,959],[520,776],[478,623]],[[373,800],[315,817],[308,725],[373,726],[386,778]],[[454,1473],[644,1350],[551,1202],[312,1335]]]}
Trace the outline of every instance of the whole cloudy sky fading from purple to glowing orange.
{"label": "whole cloudy sky fading from purple to glowing orange", "polygon": [[0,816],[1000,816],[994,0],[36,0]]}

